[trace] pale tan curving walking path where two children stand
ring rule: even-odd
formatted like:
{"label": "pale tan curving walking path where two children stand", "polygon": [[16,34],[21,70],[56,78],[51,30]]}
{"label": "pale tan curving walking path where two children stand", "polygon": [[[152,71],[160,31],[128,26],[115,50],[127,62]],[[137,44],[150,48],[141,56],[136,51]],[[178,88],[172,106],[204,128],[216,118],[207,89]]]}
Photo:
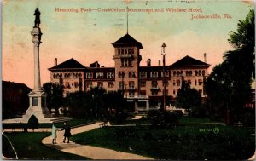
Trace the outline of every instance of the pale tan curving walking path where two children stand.
{"label": "pale tan curving walking path where two children stand", "polygon": [[[100,127],[99,124],[101,123],[90,124],[90,125],[82,126],[79,128],[73,128],[71,129],[71,133],[75,135],[84,131],[96,129]],[[147,157],[139,156],[132,153],[114,151],[114,150],[110,150],[102,147],[80,145],[72,141],[70,141],[70,143],[63,143],[62,142],[63,133],[64,131],[57,131],[57,139],[56,139],[57,144],[52,144],[51,136],[44,138],[42,140],[42,143],[48,147],[53,147],[57,150],[61,150],[62,152],[69,152],[69,153],[77,154],[77,155],[80,155],[86,158],[91,158],[91,159],[137,159],[137,160],[153,159],[153,158],[147,158]]]}

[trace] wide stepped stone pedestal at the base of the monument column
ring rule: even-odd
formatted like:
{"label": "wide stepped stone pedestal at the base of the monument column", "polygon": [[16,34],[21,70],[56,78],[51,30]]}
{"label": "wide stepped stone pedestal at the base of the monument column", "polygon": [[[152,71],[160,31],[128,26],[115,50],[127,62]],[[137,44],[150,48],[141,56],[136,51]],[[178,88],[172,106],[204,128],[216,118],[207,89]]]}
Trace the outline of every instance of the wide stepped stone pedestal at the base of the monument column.
{"label": "wide stepped stone pedestal at the base of the monument column", "polygon": [[29,96],[29,107],[26,110],[26,114],[23,115],[23,122],[27,123],[32,115],[38,118],[39,123],[44,123],[45,118],[50,118],[49,109],[46,107],[46,96],[47,94],[41,91],[32,91],[28,94]]}

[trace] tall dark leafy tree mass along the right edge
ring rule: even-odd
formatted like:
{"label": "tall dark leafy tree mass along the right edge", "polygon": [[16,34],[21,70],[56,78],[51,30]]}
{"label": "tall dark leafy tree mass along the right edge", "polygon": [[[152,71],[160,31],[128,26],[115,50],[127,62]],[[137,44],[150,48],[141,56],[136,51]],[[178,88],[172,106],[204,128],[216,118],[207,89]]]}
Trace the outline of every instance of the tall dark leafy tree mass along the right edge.
{"label": "tall dark leafy tree mass along the right edge", "polygon": [[[255,78],[254,11],[240,20],[237,32],[228,39],[235,50],[224,54],[224,62],[213,68],[205,89],[214,115],[224,115],[227,123],[242,120],[243,106],[250,99],[252,78]],[[217,112],[217,110],[219,112]]]}

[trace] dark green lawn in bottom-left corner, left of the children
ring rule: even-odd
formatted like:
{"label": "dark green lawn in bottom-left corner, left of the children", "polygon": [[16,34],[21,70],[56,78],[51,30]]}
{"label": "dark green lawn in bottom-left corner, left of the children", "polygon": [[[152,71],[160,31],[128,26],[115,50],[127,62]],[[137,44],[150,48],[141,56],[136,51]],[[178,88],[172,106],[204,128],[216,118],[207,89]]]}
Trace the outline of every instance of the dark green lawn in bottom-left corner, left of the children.
{"label": "dark green lawn in bottom-left corner, left of the children", "polygon": [[[61,152],[54,148],[44,146],[41,143],[44,137],[50,133],[5,133],[12,142],[19,159],[47,159],[47,160],[84,160],[88,158],[78,155]],[[3,155],[8,158],[15,158],[15,152],[9,145],[9,141],[3,136]]]}

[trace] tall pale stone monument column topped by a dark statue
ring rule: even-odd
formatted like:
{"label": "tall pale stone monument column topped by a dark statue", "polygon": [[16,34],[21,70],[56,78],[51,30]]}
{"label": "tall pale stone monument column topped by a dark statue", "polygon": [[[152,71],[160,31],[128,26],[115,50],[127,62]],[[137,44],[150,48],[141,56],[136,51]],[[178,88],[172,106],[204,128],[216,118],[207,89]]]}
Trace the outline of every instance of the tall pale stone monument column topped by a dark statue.
{"label": "tall pale stone monument column topped by a dark statue", "polygon": [[34,46],[34,89],[28,94],[29,96],[29,108],[26,110],[26,114],[23,115],[23,122],[27,122],[28,119],[35,115],[38,118],[39,123],[48,122],[50,118],[50,112],[46,107],[46,96],[47,94],[41,88],[40,80],[40,60],[39,60],[39,46],[41,42],[42,32],[39,27],[40,25],[40,12],[37,8],[35,10],[35,26],[31,31],[32,43]]}

